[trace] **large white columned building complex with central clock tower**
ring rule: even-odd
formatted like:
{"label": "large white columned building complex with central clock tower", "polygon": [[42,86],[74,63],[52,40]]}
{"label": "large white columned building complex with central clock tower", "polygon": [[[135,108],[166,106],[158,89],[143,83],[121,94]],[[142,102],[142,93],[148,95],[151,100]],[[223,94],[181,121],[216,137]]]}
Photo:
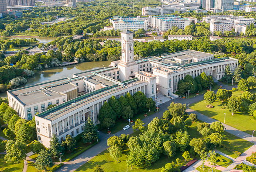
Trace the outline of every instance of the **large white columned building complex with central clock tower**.
{"label": "large white columned building complex with central clock tower", "polygon": [[[158,91],[174,97],[178,81],[187,74],[196,77],[205,72],[221,79],[226,65],[232,71],[238,65],[237,59],[214,59],[213,54],[195,50],[135,61],[133,33],[129,30],[121,32],[121,54],[120,60],[106,68],[7,91],[9,106],[24,119],[35,116],[38,141],[49,148],[53,134],[63,141],[68,134],[75,137],[82,133],[88,117],[98,124],[99,109],[112,96],[118,99],[128,92],[133,95],[142,91],[155,100]],[[46,110],[50,104],[57,106]]]}

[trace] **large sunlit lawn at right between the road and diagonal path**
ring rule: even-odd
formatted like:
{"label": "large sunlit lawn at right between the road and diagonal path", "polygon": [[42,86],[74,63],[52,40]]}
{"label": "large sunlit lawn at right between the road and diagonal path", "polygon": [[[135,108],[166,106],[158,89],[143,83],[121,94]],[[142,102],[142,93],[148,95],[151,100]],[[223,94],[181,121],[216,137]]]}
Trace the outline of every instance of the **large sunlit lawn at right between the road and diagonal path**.
{"label": "large sunlit lawn at right between the road and diagonal path", "polygon": [[[240,91],[233,92],[233,95],[241,96]],[[225,124],[230,125],[238,130],[244,131],[245,133],[252,134],[252,131],[255,129],[256,120],[253,116],[248,115],[244,112],[235,112],[234,115],[231,115],[231,112],[227,108],[222,108],[223,104],[227,104],[227,101],[217,101],[211,105],[214,108],[207,108],[208,103],[205,103],[205,100],[193,103],[189,108],[200,112],[210,118],[216,119],[220,122],[224,122],[224,113],[226,113]],[[256,136],[256,132],[254,133]]]}

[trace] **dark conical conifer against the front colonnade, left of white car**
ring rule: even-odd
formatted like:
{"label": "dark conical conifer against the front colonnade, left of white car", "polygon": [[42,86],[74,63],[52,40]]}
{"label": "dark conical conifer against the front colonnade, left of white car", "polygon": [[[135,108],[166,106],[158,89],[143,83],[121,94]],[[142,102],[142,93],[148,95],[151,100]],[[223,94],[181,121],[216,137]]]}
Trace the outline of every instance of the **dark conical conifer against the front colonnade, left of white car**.
{"label": "dark conical conifer against the front colonnade, left of white car", "polygon": [[97,126],[94,125],[94,122],[88,117],[86,122],[84,123],[84,131],[83,131],[83,143],[91,143],[99,138],[99,134],[97,131]]}

